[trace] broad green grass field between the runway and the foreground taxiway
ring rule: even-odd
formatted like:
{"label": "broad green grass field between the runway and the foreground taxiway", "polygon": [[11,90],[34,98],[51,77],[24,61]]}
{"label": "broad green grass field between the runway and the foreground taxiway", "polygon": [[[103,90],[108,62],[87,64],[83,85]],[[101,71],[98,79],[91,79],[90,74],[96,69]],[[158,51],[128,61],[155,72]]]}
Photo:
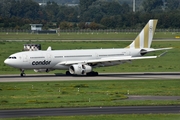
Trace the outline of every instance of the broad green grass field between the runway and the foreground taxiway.
{"label": "broad green grass field between the runway and the foreground taxiway", "polygon": [[179,100],[126,100],[130,95],[180,96],[179,80],[13,82],[0,84],[0,109],[180,105]]}

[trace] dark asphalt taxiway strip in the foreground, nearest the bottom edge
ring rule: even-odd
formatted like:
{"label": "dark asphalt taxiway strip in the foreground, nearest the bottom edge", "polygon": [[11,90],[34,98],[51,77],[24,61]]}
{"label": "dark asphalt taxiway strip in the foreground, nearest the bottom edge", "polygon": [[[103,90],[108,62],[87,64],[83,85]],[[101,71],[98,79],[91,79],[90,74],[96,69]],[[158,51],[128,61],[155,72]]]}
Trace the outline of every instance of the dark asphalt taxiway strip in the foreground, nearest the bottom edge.
{"label": "dark asphalt taxiway strip in the foreground, nearest the bottom edge", "polygon": [[0,118],[98,114],[180,113],[180,106],[133,106],[0,110]]}

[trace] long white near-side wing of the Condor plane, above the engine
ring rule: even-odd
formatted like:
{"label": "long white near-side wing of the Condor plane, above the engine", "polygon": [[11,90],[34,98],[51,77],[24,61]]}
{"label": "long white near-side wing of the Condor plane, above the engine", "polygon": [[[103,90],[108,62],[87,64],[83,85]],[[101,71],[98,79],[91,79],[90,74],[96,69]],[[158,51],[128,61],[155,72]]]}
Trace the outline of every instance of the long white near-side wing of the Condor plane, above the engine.
{"label": "long white near-side wing of the Condor plane, above the engine", "polygon": [[104,63],[104,62],[115,62],[115,61],[131,61],[131,60],[138,60],[138,59],[151,59],[157,58],[157,56],[145,56],[145,57],[132,57],[132,56],[122,56],[122,57],[106,57],[100,59],[92,59],[92,60],[74,60],[74,61],[63,61],[59,64],[64,65],[72,65],[72,64],[97,64],[97,63]]}

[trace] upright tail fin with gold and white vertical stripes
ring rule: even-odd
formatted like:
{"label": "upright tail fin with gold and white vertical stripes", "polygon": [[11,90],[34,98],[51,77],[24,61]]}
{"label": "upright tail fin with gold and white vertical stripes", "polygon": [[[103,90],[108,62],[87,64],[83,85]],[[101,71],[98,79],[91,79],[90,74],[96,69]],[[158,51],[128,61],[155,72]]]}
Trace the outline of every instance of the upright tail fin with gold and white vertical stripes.
{"label": "upright tail fin with gold and white vertical stripes", "polygon": [[149,20],[136,39],[126,48],[150,48],[158,20]]}

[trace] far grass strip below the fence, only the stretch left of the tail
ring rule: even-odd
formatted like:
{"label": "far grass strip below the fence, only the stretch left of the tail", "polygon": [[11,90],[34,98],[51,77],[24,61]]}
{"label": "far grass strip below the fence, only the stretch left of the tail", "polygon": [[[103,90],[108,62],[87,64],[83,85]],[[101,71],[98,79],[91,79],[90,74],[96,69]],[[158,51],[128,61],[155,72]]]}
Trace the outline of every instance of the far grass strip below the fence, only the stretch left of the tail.
{"label": "far grass strip below the fence, only the stretch left of the tail", "polygon": [[[0,33],[0,40],[93,40],[93,39],[132,39],[136,33],[60,33],[58,34],[29,34],[29,33]],[[28,36],[28,37],[27,37]]]}

